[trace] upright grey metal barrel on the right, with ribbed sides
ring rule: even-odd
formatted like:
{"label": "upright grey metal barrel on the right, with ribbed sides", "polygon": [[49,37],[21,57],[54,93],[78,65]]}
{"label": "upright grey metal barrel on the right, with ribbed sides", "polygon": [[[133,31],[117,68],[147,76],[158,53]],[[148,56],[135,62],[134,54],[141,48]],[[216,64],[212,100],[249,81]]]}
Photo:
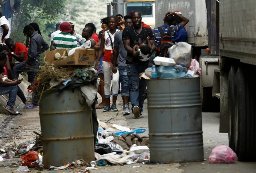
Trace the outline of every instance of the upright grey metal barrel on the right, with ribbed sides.
{"label": "upright grey metal barrel on the right, with ribbed sides", "polygon": [[200,78],[147,81],[150,160],[204,160]]}

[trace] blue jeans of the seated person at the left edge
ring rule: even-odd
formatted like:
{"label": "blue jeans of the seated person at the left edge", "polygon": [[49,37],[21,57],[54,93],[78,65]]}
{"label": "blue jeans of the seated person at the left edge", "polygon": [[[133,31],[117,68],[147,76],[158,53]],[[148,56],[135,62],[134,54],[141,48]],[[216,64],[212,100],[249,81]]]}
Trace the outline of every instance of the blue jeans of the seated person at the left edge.
{"label": "blue jeans of the seated person at the left edge", "polygon": [[17,86],[0,86],[0,95],[9,94],[9,100],[6,106],[7,109],[14,109],[17,91]]}

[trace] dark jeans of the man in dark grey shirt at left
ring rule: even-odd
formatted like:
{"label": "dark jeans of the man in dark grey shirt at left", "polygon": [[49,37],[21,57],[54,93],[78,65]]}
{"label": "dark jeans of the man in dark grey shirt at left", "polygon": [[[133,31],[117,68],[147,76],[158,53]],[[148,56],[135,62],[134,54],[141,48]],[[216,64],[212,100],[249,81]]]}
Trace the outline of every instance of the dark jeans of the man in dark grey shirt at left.
{"label": "dark jeans of the man in dark grey shirt at left", "polygon": [[[36,78],[36,75],[38,73],[38,68],[39,68],[40,63],[36,62],[36,60],[29,62],[27,70],[26,70],[25,63],[26,62],[24,61],[24,62],[21,62],[20,64],[18,64],[17,66],[14,66],[14,68],[12,70],[12,78],[18,79],[19,74],[21,72],[27,72],[28,73],[28,82],[33,84],[34,79]],[[32,103],[35,105],[38,104],[38,94],[36,91],[33,92]]]}

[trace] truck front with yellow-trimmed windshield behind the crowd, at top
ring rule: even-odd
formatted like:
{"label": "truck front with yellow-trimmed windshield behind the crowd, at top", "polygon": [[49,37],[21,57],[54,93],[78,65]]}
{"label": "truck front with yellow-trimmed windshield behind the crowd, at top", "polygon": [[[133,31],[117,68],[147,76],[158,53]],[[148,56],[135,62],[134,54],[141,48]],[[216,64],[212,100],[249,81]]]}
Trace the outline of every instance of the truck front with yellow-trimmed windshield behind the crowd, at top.
{"label": "truck front with yellow-trimmed windshield behind the crowd, at top", "polygon": [[155,0],[113,0],[107,4],[107,16],[125,16],[134,10],[141,12],[145,24],[155,28]]}

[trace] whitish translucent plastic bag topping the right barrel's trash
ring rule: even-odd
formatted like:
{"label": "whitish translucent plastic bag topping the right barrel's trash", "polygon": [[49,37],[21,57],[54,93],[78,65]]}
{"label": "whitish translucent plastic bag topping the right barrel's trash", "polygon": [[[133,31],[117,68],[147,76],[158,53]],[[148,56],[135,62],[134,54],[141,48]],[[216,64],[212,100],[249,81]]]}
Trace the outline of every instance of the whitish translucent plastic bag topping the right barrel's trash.
{"label": "whitish translucent plastic bag topping the right barrel's trash", "polygon": [[169,49],[169,58],[172,58],[177,64],[189,68],[192,59],[192,45],[186,42],[178,42]]}

